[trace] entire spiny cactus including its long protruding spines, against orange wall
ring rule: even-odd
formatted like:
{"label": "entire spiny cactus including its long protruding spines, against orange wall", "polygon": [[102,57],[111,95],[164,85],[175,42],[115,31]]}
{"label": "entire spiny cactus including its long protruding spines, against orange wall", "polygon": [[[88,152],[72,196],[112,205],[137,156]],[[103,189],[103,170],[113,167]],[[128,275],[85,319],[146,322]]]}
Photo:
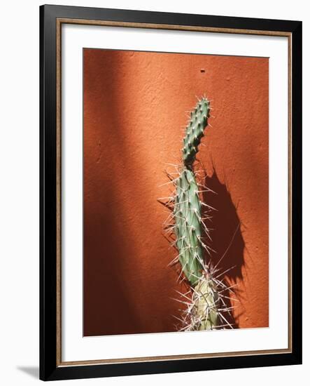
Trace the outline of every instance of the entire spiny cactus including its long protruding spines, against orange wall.
{"label": "entire spiny cactus including its long protruding spines, against orange wall", "polygon": [[[178,177],[169,176],[175,193],[166,206],[173,213],[174,222],[170,224],[170,229],[173,229],[174,245],[178,250],[178,256],[173,262],[181,264],[181,275],[187,280],[191,293],[180,293],[183,299],[178,300],[187,306],[181,319],[184,325],[181,331],[213,330],[228,325],[232,327],[223,315],[225,311],[230,312],[223,301],[223,292],[227,286],[216,278],[218,269],[213,267],[211,260],[206,263],[205,255],[210,255],[212,250],[203,241],[204,234],[209,238],[210,235],[202,218],[202,206],[208,205],[201,200],[201,185],[196,181],[197,173],[193,166],[209,116],[209,100],[198,100],[185,129],[183,162],[178,168]],[[221,306],[220,302],[223,303]]]}

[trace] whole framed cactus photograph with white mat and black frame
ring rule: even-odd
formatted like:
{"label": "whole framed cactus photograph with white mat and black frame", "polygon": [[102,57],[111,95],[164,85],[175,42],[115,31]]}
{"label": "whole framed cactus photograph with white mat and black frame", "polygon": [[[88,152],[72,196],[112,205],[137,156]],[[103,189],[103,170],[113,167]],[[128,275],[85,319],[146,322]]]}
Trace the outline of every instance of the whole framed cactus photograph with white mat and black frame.
{"label": "whole framed cactus photograph with white mat and black frame", "polygon": [[302,22],[41,6],[40,378],[302,363]]}

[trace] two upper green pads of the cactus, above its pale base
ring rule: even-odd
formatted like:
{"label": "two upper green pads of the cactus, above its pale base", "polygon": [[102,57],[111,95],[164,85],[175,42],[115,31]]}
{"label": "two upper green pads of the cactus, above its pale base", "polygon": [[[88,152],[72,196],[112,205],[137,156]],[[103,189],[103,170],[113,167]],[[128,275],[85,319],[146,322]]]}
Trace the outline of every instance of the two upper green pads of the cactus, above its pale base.
{"label": "two upper green pads of the cactus, above its pale base", "polygon": [[202,243],[202,204],[192,164],[198,145],[208,124],[209,101],[202,98],[190,114],[190,122],[183,140],[183,170],[176,182],[174,217],[176,220],[176,246],[185,276],[192,286],[202,275],[204,264]]}

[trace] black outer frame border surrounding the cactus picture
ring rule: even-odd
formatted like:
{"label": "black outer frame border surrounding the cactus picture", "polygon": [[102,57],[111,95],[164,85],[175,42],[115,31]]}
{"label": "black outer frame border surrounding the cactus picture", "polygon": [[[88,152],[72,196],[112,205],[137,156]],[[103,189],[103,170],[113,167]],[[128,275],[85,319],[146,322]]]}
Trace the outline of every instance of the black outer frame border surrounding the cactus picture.
{"label": "black outer frame border surrounding the cactus picture", "polygon": [[[180,360],[59,363],[57,307],[57,19],[286,32],[291,36],[291,350]],[[64,380],[302,363],[302,22],[76,6],[40,7],[40,379]],[[60,284],[61,285],[61,284]],[[57,359],[58,358],[58,359]]]}

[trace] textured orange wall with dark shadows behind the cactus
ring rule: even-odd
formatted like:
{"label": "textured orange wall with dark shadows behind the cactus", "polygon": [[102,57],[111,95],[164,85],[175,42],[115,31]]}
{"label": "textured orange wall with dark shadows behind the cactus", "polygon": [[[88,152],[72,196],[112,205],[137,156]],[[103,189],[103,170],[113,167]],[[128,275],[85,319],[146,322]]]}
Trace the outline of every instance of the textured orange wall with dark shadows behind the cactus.
{"label": "textured orange wall with dark shadows behind the cactus", "polygon": [[[235,327],[266,327],[268,59],[85,49],[84,334],[174,331],[176,256],[164,238],[164,170],[181,159],[186,112],[211,100],[199,170],[216,194],[213,258],[239,301]],[[240,225],[239,225],[240,224]]]}

